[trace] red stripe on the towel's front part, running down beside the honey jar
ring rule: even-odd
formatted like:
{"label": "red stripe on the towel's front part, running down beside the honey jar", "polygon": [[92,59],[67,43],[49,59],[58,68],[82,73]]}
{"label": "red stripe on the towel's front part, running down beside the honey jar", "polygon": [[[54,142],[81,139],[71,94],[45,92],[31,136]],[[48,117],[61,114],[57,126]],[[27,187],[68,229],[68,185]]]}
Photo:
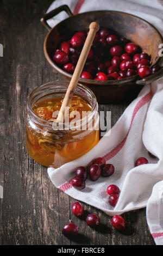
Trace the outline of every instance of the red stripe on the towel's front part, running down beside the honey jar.
{"label": "red stripe on the towel's front part, running down beside the honey jar", "polygon": [[[130,128],[131,128],[131,124],[133,123],[133,120],[134,120],[134,117],[136,115],[136,113],[139,111],[139,109],[144,106],[146,103],[148,103],[150,100],[151,100],[151,92],[146,94],[145,96],[142,97],[142,99],[137,102],[135,108],[134,108],[134,111],[133,111],[133,115],[132,115],[132,118],[131,118],[131,123],[130,123],[130,127],[129,127],[129,130],[127,132],[127,135],[126,137],[124,137],[124,139],[121,141],[120,144],[118,144],[114,149],[112,149],[108,154],[106,154],[104,156],[104,159],[105,161],[108,161],[109,159],[111,159],[112,157],[114,157],[122,148],[123,148],[123,145],[124,143],[126,142],[126,139],[127,139],[127,136],[128,136],[128,133],[130,131]],[[59,190],[61,191],[66,191],[68,190],[69,188],[72,187],[72,184],[71,184],[71,180],[66,182],[65,184],[63,184],[62,186],[59,187]],[[158,233],[158,234],[163,234],[163,233]]]}

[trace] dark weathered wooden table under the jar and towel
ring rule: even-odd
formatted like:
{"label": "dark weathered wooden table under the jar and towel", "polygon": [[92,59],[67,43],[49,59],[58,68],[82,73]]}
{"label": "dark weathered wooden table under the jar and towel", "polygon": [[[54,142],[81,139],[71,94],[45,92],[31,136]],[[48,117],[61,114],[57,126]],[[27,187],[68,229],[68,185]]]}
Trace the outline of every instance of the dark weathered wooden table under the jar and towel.
{"label": "dark weathered wooden table under the jar and towel", "polygon": [[[102,225],[97,230],[72,215],[74,199],[57,190],[47,175],[47,168],[36,163],[26,151],[24,110],[27,95],[43,83],[64,79],[47,63],[43,54],[46,29],[40,23],[52,0],[1,0],[0,57],[1,84],[1,172],[0,199],[1,245],[153,245],[146,222],[146,209],[124,214],[128,230],[118,233],[111,218],[102,211],[83,204],[96,213]],[[100,105],[111,111],[112,125],[127,104]],[[61,234],[64,224],[77,223],[82,236],[70,241]]]}

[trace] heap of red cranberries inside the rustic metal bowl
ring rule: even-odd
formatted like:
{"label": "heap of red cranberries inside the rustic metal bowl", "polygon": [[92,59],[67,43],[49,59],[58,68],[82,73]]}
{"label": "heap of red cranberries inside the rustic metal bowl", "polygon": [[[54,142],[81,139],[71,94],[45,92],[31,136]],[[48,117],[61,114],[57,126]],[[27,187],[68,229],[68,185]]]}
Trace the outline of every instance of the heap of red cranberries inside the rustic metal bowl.
{"label": "heap of red cranberries inside the rustic metal bowl", "polygon": [[[68,73],[73,73],[84,45],[86,34],[76,32],[63,41],[55,51],[53,60]],[[150,68],[150,57],[140,47],[126,38],[120,38],[102,28],[96,33],[81,77],[89,80],[121,80],[139,74],[145,78],[158,71],[158,65]]]}

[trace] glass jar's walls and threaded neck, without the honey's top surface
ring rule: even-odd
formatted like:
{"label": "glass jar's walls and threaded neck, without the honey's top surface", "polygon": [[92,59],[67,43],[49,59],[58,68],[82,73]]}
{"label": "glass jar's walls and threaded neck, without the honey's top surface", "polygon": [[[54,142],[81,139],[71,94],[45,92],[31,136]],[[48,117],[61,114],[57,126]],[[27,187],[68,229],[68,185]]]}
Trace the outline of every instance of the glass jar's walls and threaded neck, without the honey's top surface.
{"label": "glass jar's walls and threaded neck, without the honey's top surface", "polygon": [[[47,167],[58,168],[91,150],[99,141],[99,114],[96,96],[78,84],[74,92],[91,107],[91,111],[77,121],[76,129],[64,125],[65,131],[54,130],[52,121],[43,120],[32,110],[39,101],[64,97],[69,82],[54,81],[37,87],[28,97],[26,114],[26,147],[29,155]],[[82,124],[82,125],[81,125]],[[65,128],[66,127],[66,128]]]}

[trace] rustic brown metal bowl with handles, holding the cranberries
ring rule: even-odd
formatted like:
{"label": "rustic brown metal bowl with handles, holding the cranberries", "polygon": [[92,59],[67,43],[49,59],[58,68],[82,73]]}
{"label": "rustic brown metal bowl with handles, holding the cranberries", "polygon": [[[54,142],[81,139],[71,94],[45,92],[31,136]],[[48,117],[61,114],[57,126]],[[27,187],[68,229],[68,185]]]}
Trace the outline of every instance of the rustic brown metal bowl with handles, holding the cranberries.
{"label": "rustic brown metal bowl with handles, holding the cranberries", "polygon": [[[57,15],[61,11],[66,11],[70,16],[58,23],[51,29],[47,20]],[[99,23],[101,27],[116,31],[120,36],[126,37],[135,44],[139,45],[144,52],[151,56],[151,64],[155,65],[160,60],[158,55],[158,46],[163,43],[162,36],[147,21],[131,14],[120,11],[89,11],[87,13],[73,15],[67,5],[61,5],[59,8],[46,14],[41,22],[48,29],[48,34],[44,41],[43,50],[48,63],[60,74],[71,78],[72,75],[62,70],[54,63],[52,56],[60,45],[60,42],[69,34],[76,31],[85,31],[89,29],[92,21]],[[163,68],[155,74],[140,80],[138,75],[124,78],[123,80],[95,81],[80,78],[79,83],[85,84],[93,93],[95,93],[99,103],[116,103],[132,100],[139,93],[142,84],[150,83],[163,75]],[[139,85],[138,85],[139,84]]]}

